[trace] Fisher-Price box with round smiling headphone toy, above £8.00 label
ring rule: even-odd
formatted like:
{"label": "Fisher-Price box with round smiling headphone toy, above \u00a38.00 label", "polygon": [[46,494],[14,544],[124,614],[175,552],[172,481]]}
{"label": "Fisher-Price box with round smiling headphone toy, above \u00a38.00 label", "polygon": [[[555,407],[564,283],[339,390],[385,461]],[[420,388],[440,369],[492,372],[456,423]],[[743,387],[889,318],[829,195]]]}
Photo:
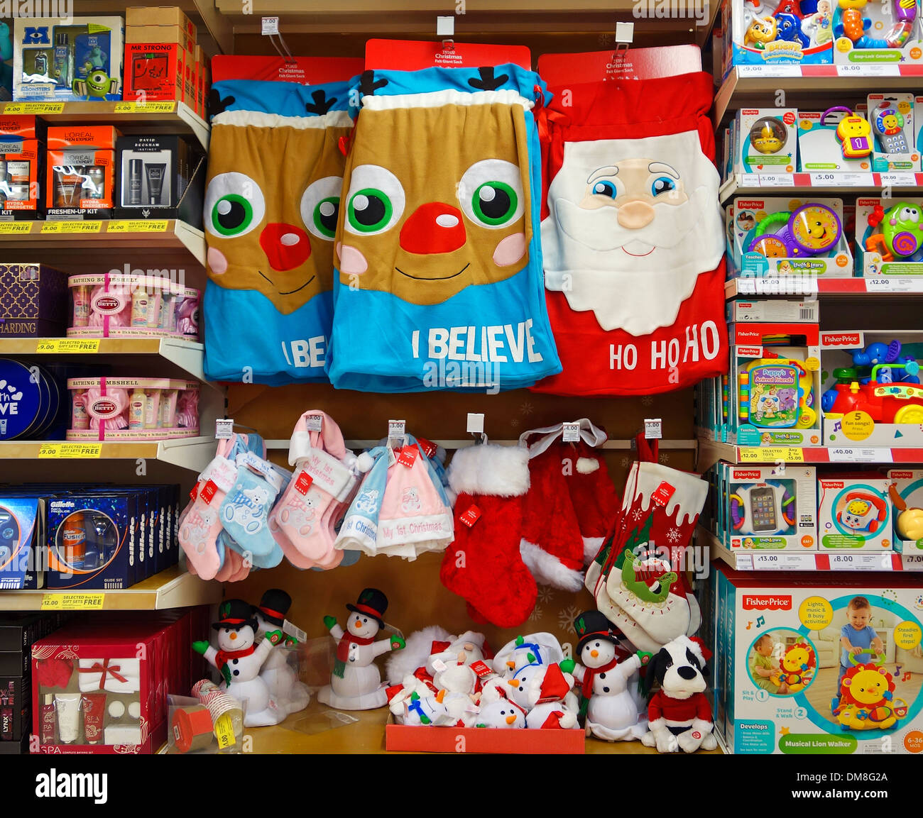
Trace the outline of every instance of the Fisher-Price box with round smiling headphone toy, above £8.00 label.
{"label": "Fisher-Price box with round smiling headphone toy, above \u00a38.00 label", "polygon": [[874,474],[818,480],[819,551],[892,551],[889,481]]}

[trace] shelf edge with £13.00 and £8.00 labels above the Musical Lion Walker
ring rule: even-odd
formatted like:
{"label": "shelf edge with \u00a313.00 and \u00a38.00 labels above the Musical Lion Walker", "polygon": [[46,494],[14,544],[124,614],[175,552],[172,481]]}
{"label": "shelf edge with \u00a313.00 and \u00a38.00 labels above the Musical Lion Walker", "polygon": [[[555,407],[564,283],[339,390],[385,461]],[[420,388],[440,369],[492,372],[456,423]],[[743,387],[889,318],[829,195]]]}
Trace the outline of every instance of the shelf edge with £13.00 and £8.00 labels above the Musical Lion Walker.
{"label": "shelf edge with \u00a313.00 and \u00a38.00 labels above the Musical Lion Walker", "polygon": [[721,560],[735,571],[923,571],[923,553],[731,551],[701,526],[696,528],[696,537],[708,545],[713,560]]}

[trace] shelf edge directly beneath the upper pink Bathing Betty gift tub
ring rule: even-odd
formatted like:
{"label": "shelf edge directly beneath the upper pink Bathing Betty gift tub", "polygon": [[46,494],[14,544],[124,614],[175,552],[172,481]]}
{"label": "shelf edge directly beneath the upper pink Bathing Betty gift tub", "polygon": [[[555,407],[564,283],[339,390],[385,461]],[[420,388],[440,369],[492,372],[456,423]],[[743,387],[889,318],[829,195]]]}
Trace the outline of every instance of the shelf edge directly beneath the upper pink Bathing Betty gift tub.
{"label": "shelf edge directly beneath the upper pink Bathing Betty gift tub", "polygon": [[80,362],[101,357],[133,358],[138,355],[159,356],[191,377],[205,380],[202,358],[205,347],[198,341],[179,338],[0,338],[0,356],[37,356],[66,358]]}

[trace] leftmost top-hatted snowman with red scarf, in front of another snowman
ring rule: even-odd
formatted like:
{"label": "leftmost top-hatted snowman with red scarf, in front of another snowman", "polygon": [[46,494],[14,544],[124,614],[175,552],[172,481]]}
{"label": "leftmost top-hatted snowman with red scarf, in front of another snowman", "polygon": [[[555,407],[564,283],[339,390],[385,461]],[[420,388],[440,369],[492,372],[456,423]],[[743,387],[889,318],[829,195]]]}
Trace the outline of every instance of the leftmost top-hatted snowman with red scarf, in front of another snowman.
{"label": "leftmost top-hatted snowman with red scarf, in front of another snowman", "polygon": [[282,631],[268,633],[257,645],[257,620],[252,607],[243,599],[222,602],[218,615],[219,621],[211,625],[218,632],[218,648],[201,641],[193,642],[193,649],[221,670],[222,687],[229,694],[238,701],[246,701],[245,727],[278,724],[285,714],[270,696],[270,689],[259,673],[272,648],[282,640]]}

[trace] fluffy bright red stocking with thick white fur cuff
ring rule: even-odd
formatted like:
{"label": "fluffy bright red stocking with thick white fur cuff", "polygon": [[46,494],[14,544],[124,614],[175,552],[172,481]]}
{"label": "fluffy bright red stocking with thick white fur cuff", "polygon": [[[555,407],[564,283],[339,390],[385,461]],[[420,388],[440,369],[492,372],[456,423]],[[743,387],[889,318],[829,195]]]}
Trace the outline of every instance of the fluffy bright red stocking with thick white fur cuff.
{"label": "fluffy bright red stocking with thick white fur cuff", "polygon": [[537,587],[520,556],[529,451],[521,446],[460,449],[449,465],[457,493],[455,541],[442,559],[442,584],[468,602],[477,618],[501,628],[525,622]]}

